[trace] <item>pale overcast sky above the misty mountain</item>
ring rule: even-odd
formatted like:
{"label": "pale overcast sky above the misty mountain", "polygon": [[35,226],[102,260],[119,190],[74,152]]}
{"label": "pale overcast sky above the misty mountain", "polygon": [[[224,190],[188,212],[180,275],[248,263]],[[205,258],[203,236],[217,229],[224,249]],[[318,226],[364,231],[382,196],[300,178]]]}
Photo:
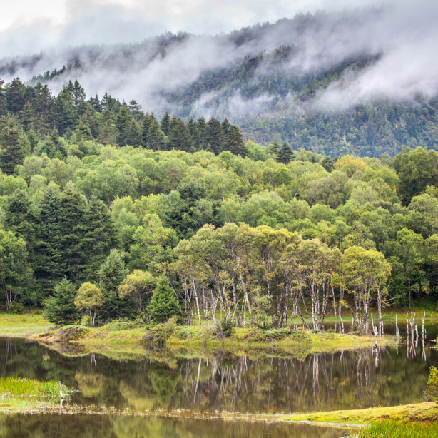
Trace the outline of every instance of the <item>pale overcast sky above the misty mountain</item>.
{"label": "pale overcast sky above the misty mountain", "polygon": [[[393,2],[402,0],[392,0]],[[51,47],[142,41],[163,31],[218,34],[318,9],[376,0],[15,0],[0,14],[0,57]]]}

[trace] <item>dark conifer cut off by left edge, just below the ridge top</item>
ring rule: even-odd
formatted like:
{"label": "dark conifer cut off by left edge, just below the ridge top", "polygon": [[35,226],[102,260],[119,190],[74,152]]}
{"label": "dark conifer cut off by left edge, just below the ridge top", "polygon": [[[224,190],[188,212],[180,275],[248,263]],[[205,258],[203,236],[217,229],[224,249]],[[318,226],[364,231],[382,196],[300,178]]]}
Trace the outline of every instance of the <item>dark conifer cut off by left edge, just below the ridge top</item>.
{"label": "dark conifer cut off by left edge, just below the ridge top", "polygon": [[0,117],[0,168],[4,173],[14,173],[30,152],[29,140],[15,118]]}

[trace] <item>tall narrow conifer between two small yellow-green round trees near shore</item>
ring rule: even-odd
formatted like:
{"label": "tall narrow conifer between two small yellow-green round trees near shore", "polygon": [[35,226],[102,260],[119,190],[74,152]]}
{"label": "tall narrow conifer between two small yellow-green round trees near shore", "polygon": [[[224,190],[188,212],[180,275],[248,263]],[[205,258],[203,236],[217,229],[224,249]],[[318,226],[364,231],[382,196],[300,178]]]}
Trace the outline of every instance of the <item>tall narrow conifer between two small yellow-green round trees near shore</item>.
{"label": "tall narrow conifer between two small yellow-green round trees near shore", "polygon": [[113,320],[129,313],[126,302],[123,303],[118,297],[118,287],[127,275],[120,251],[111,251],[103,265],[101,265],[98,274],[99,287],[103,294],[103,307],[101,310],[103,320]]}

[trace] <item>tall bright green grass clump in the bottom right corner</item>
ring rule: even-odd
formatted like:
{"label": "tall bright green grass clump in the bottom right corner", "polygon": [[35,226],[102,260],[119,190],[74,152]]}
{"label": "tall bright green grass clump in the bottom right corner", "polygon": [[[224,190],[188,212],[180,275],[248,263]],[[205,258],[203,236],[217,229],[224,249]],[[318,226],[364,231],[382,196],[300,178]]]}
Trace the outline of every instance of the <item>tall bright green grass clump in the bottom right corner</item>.
{"label": "tall bright green grass clump in the bottom right corner", "polygon": [[382,420],[362,429],[357,438],[438,438],[438,427],[436,423]]}

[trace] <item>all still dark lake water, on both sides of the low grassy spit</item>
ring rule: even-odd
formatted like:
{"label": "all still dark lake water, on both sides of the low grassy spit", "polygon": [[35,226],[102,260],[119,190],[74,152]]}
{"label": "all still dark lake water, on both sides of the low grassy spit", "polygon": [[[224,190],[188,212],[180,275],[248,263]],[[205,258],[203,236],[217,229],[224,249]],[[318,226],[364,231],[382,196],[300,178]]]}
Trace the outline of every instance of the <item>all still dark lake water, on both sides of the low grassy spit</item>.
{"label": "all still dark lake water, on both sides of the low grassy spit", "polygon": [[[388,327],[387,332],[391,330]],[[400,327],[402,332],[403,327]],[[427,339],[437,327],[427,327]],[[175,355],[144,350],[135,357],[61,354],[24,340],[0,340],[0,375],[61,380],[83,406],[185,409],[272,414],[360,409],[421,402],[438,351],[417,343],[378,350],[278,357],[268,351],[223,350]],[[71,434],[68,424],[76,424]],[[0,417],[0,437],[341,437],[338,429],[307,425],[120,416],[11,415]]]}

